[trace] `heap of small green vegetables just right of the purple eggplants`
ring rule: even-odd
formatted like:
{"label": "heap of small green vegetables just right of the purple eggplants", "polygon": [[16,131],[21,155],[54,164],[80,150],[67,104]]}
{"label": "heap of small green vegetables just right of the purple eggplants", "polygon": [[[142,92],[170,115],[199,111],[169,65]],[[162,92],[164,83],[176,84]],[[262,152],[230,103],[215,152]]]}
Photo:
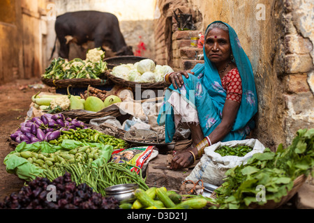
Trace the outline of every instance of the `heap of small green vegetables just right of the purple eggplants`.
{"label": "heap of small green vegetables just right of the purple eggplants", "polygon": [[61,143],[63,139],[74,139],[75,141],[82,141],[84,143],[100,143],[111,145],[115,149],[126,148],[128,143],[124,139],[118,139],[109,134],[98,132],[97,130],[85,129],[69,129],[67,131],[61,130],[60,137],[55,141],[55,144]]}

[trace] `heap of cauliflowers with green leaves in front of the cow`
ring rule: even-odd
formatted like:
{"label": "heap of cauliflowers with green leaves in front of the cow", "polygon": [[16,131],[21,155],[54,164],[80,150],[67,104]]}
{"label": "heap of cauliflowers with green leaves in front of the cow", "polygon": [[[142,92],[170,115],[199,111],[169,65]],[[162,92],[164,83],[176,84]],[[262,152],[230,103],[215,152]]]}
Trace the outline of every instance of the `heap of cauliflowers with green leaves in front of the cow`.
{"label": "heap of cauliflowers with green leaves in front of the cow", "polygon": [[89,50],[86,60],[75,58],[67,62],[59,57],[52,60],[50,66],[45,69],[43,77],[47,79],[99,79],[100,75],[107,70],[107,63],[103,61],[104,57],[105,52],[100,48]]}

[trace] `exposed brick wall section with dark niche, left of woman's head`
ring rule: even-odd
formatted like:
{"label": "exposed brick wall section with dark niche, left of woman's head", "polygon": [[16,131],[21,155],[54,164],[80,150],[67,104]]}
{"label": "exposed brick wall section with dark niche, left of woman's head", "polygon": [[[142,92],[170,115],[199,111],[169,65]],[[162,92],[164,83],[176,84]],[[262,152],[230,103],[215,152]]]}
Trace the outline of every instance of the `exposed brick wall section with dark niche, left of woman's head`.
{"label": "exposed brick wall section with dark niche, left of woman's head", "polygon": [[174,10],[181,10],[182,13],[191,14],[196,29],[202,17],[198,12],[192,10],[186,0],[160,0],[156,8],[159,10],[159,17],[154,21],[155,52],[156,62],[162,65],[169,65],[174,70],[189,70],[196,63],[202,61],[195,60],[197,54],[202,54],[202,49],[190,47],[190,38],[197,37],[200,31],[179,31],[177,21],[174,19]]}

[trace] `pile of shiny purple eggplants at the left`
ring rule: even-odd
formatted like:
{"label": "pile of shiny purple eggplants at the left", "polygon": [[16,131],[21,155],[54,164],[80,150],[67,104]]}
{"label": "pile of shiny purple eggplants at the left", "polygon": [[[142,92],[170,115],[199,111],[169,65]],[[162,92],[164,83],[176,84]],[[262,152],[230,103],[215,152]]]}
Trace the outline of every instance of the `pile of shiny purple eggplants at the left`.
{"label": "pile of shiny purple eggplants at the left", "polygon": [[10,135],[10,138],[17,143],[25,141],[33,144],[38,141],[51,141],[58,139],[61,130],[77,130],[87,128],[82,121],[76,118],[65,118],[63,114],[43,114],[40,117],[33,117],[20,124],[20,128]]}

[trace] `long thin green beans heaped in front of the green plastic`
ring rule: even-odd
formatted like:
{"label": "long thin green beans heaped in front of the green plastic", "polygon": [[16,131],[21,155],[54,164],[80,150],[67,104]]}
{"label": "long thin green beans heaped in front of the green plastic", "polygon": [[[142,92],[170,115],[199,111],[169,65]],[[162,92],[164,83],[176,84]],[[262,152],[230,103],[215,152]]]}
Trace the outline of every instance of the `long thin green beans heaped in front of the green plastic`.
{"label": "long thin green beans heaped in front of the green plastic", "polygon": [[[130,167],[139,169],[139,174],[135,171],[130,171]],[[147,190],[149,187],[142,178],[142,170],[132,164],[103,162],[96,167],[91,162],[66,162],[57,164],[52,167],[47,167],[44,171],[44,176],[49,180],[54,180],[59,176],[63,176],[65,172],[71,174],[71,179],[77,184],[87,183],[98,192],[105,196],[105,188],[121,183],[137,183],[140,188]]]}

